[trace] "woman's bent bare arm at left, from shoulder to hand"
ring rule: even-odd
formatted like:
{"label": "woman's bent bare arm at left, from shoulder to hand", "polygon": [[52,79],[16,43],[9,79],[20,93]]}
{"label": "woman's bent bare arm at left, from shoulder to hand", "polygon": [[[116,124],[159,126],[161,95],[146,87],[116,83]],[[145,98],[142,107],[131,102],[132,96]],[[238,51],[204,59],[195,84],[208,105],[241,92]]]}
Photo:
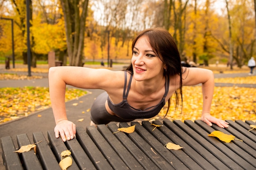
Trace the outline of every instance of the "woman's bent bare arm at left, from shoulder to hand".
{"label": "woman's bent bare arm at left, from shoulder to hand", "polygon": [[55,136],[59,135],[63,141],[73,139],[76,126],[67,120],[65,109],[66,84],[85,89],[103,89],[111,91],[116,89],[123,72],[108,69],[92,69],[77,66],[59,66],[49,69],[49,93],[56,126]]}

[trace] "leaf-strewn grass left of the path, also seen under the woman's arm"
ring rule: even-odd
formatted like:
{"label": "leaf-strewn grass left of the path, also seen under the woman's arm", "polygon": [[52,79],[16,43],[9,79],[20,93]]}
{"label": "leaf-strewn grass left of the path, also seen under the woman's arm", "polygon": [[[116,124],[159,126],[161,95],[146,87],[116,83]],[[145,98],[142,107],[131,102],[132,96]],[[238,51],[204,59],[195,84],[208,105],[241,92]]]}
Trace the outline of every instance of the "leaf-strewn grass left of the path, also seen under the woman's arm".
{"label": "leaf-strewn grass left of the path, also seen under the woman's arm", "polygon": [[[76,99],[85,94],[86,91],[67,88],[65,101]],[[0,123],[28,116],[50,106],[49,88],[0,88]]]}

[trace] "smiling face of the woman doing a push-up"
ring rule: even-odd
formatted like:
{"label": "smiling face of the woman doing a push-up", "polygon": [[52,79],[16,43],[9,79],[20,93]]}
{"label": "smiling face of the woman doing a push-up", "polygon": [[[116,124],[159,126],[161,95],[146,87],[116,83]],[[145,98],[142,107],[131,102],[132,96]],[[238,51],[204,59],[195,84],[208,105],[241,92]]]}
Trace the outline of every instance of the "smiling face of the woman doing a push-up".
{"label": "smiling face of the woman doing a push-up", "polygon": [[135,43],[131,62],[134,78],[137,81],[163,76],[165,64],[153,51],[146,36],[142,36]]}

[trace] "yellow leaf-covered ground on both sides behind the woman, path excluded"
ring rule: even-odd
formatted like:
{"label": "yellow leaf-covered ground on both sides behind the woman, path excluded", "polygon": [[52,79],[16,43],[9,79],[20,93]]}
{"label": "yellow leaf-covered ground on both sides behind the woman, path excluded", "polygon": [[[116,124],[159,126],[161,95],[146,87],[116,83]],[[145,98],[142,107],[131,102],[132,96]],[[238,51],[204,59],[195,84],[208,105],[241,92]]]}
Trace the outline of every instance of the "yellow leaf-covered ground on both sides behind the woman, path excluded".
{"label": "yellow leaf-covered ground on both sides behind the woman, path excluded", "polygon": [[[46,69],[45,69],[46,70]],[[45,70],[39,70],[43,72]],[[16,70],[17,71],[17,70]],[[22,70],[23,71],[23,70]],[[227,71],[226,71],[227,72]],[[232,72],[234,73],[234,72]],[[38,79],[40,76],[20,76],[16,74],[0,74],[0,79]],[[218,78],[215,82],[233,84],[256,84],[256,76]],[[67,89],[66,101],[85,95],[85,91]],[[253,120],[256,121],[256,88],[215,87],[211,114],[220,119]],[[27,116],[38,110],[49,108],[49,88],[24,87],[0,88],[0,123],[22,116]],[[202,92],[200,86],[183,87],[183,108],[174,111],[172,101],[171,111],[167,118],[170,120],[200,119],[202,112]],[[74,106],[75,107],[75,106]],[[162,109],[154,119],[164,116]]]}

